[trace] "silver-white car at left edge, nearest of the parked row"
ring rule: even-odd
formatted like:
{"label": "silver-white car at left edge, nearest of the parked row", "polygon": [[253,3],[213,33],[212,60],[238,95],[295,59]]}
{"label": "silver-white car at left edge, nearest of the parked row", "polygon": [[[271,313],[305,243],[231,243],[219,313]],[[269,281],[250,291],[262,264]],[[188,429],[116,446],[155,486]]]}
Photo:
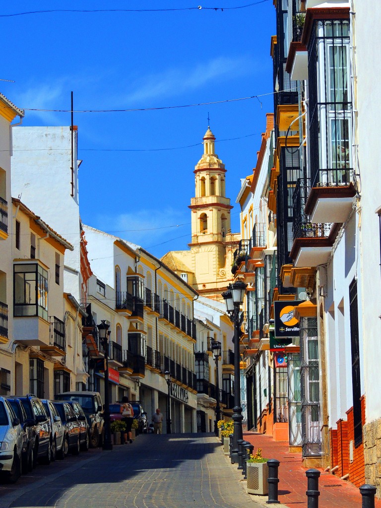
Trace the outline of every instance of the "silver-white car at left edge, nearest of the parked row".
{"label": "silver-white car at left edge, nearest of the parked row", "polygon": [[10,483],[21,474],[23,430],[11,405],[0,397],[0,474]]}

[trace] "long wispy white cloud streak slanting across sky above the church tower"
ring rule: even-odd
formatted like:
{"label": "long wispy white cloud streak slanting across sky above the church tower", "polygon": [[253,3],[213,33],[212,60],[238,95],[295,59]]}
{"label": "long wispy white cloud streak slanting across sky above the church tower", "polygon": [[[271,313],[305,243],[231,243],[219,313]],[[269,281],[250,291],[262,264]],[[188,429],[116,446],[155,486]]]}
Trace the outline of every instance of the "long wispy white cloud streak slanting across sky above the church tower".
{"label": "long wispy white cloud streak slanting across sky above the church tower", "polygon": [[195,68],[168,69],[162,73],[151,74],[137,81],[125,97],[123,104],[137,103],[147,99],[179,95],[195,90],[215,79],[232,79],[251,72],[252,62],[246,57],[228,58],[220,56]]}

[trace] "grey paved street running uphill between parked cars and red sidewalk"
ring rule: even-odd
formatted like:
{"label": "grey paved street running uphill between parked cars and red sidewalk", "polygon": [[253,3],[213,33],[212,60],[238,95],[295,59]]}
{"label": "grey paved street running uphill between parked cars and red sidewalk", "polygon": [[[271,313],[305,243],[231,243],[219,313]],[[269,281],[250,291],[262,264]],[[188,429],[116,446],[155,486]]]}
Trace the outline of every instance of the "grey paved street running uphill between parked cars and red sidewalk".
{"label": "grey paved street running uphill between parked cars and red sidewalk", "polygon": [[0,508],[242,508],[263,506],[212,434],[140,435],[112,451],[39,465],[0,485]]}

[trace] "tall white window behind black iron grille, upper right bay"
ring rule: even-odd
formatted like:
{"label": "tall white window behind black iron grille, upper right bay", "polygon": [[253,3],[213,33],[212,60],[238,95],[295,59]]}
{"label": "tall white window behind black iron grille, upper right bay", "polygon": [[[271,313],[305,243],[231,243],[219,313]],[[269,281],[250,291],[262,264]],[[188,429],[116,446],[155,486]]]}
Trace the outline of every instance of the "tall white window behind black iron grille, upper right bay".
{"label": "tall white window behind black iron grille, upper right bay", "polygon": [[352,166],[350,22],[316,20],[308,46],[312,186],[348,185]]}

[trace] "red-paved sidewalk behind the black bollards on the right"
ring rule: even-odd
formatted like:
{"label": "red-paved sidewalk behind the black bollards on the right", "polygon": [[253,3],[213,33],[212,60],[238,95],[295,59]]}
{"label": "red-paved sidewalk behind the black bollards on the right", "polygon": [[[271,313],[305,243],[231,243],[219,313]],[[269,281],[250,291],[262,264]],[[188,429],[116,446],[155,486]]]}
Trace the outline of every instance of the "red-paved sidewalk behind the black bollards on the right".
{"label": "red-paved sidewalk behind the black bollards on the right", "polygon": [[[254,446],[254,451],[262,448],[263,457],[279,460],[279,501],[290,508],[307,506],[306,469],[301,467],[301,454],[289,453],[288,442],[276,442],[266,434],[244,432],[243,439]],[[359,489],[329,472],[321,470],[319,490],[319,508],[361,508]],[[375,508],[381,508],[381,501],[376,500]]]}

